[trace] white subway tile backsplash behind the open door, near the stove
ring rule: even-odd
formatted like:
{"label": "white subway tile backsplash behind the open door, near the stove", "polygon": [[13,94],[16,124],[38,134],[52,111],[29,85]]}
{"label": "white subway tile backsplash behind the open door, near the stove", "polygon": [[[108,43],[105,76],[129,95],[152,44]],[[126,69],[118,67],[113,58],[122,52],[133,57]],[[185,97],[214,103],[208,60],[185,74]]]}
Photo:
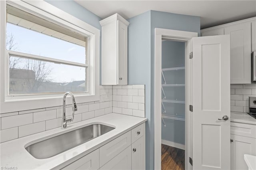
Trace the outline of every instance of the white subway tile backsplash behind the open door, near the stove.
{"label": "white subway tile backsplash behind the open door, near the stove", "polygon": [[247,113],[249,96],[256,97],[256,84],[230,86],[230,111]]}

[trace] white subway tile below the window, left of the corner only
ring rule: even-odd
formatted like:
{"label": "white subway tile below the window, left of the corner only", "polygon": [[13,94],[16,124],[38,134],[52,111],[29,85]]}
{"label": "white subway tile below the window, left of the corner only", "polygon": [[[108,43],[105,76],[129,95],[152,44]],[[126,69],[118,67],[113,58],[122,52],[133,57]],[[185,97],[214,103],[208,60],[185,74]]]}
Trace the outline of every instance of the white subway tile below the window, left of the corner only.
{"label": "white subway tile below the window, left of the corner only", "polygon": [[[112,85],[100,86],[100,101],[77,103],[78,111],[71,123],[112,113],[112,92]],[[66,113],[72,117],[72,105],[66,105]],[[0,114],[0,142],[60,127],[61,117],[62,106]]]}

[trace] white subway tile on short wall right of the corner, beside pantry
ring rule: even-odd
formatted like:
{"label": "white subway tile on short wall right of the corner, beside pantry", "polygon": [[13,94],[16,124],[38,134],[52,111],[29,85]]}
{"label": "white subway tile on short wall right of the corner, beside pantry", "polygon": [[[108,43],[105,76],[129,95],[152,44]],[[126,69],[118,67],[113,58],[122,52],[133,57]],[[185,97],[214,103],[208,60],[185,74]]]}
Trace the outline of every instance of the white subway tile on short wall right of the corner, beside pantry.
{"label": "white subway tile on short wall right of the corner, beside pantry", "polygon": [[145,117],[145,86],[113,86],[113,112]]}

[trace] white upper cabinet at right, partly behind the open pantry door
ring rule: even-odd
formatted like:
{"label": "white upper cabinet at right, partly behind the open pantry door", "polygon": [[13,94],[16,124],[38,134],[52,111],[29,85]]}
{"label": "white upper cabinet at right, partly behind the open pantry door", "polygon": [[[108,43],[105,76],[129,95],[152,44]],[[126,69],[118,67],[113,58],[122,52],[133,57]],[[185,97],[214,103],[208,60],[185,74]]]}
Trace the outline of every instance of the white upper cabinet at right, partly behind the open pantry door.
{"label": "white upper cabinet at right, partly behind the open pantry door", "polygon": [[230,35],[230,83],[250,84],[251,53],[256,50],[256,17],[201,30],[202,36]]}

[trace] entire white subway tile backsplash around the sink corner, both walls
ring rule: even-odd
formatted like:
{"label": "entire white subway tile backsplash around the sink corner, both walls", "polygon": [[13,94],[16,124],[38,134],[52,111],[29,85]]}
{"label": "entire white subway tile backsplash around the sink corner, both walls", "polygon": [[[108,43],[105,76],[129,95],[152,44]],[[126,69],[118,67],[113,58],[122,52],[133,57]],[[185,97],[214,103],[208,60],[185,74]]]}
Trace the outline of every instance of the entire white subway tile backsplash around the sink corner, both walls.
{"label": "entire white subway tile backsplash around the sink corner, both walls", "polygon": [[[77,103],[74,121],[84,121],[108,113],[145,117],[144,85],[102,85],[100,101]],[[61,127],[62,106],[0,114],[0,142]],[[72,105],[66,105],[72,117]],[[68,123],[71,124],[71,123]]]}

